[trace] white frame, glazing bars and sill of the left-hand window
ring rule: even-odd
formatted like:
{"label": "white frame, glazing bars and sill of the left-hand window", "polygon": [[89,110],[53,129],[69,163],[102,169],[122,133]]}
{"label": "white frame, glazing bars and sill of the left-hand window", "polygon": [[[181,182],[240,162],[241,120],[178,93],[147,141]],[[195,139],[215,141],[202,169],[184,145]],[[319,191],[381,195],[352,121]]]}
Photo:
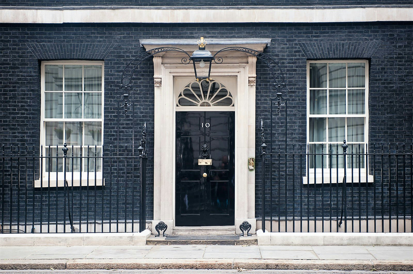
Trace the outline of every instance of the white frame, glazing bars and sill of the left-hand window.
{"label": "white frame, glazing bars and sill of the left-hand window", "polygon": [[[45,118],[45,65],[102,65],[102,88],[101,88],[101,93],[102,93],[102,117],[101,118]],[[84,81],[83,76],[82,76],[82,82]],[[63,74],[63,92],[64,92],[64,74]],[[43,157],[47,157],[46,154],[46,148],[48,147],[47,144],[45,144],[45,122],[53,122],[53,121],[58,121],[58,122],[94,122],[94,121],[99,121],[102,123],[102,144],[101,146],[98,146],[101,148],[102,153],[103,153],[103,133],[104,133],[104,62],[103,61],[83,61],[83,60],[55,60],[55,61],[43,61],[41,63],[40,67],[40,89],[41,89],[41,101],[40,101],[40,151],[42,151],[43,148]],[[82,85],[82,89],[84,89],[84,85]],[[56,91],[58,92],[58,91]],[[85,93],[85,91],[82,91],[82,93]],[[83,104],[83,102],[82,102]],[[63,96],[63,106],[64,106],[64,96]],[[63,111],[64,113],[64,111]],[[83,107],[82,107],[82,113],[83,113]],[[84,135],[84,134],[83,134]],[[84,136],[82,137],[82,144],[84,143]],[[51,146],[52,147],[52,146]],[[54,146],[56,147],[56,145]],[[69,148],[69,152],[67,153],[67,160],[71,160],[71,146],[67,146]],[[62,149],[63,144],[58,145],[58,149]],[[83,146],[85,148],[85,146]],[[90,148],[94,149],[94,146],[90,146]],[[54,155],[51,155],[54,156]],[[83,153],[83,157],[86,155]],[[94,156],[90,155],[91,157]],[[101,157],[101,156],[98,156]],[[34,181],[34,187],[35,188],[47,188],[47,187],[56,187],[56,186],[64,186],[64,172],[46,172],[46,160],[43,158],[43,170],[41,170],[41,173],[43,176],[39,178],[38,180]],[[83,162],[84,163],[84,162]],[[85,172],[82,170],[82,172],[72,172],[71,170],[66,170],[66,181],[68,182],[69,186],[103,186],[104,185],[104,180],[102,179],[102,170],[103,170],[103,159],[101,161],[102,167],[100,167],[99,172]]]}

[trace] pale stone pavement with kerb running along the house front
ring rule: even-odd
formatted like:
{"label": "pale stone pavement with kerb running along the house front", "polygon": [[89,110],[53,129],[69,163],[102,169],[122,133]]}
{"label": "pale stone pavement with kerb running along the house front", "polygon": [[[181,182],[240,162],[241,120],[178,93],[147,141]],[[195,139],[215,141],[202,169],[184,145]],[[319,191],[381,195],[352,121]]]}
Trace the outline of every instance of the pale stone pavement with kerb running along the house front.
{"label": "pale stone pavement with kerb running along the house front", "polygon": [[0,269],[413,271],[413,246],[3,246]]}

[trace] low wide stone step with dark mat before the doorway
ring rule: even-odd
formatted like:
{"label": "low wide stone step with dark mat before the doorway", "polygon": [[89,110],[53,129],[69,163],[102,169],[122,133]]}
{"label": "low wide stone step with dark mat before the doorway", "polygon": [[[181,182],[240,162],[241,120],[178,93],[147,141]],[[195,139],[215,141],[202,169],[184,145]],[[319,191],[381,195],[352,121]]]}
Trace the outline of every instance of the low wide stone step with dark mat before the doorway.
{"label": "low wide stone step with dark mat before the doorway", "polygon": [[[217,235],[225,236],[225,235]],[[207,239],[166,239],[165,237],[155,237],[151,236],[146,240],[147,245],[172,245],[172,244],[184,244],[184,245],[231,245],[231,246],[243,246],[243,245],[257,245],[256,235],[249,237],[239,237],[239,239],[230,239],[234,235],[228,235],[228,239],[222,239],[222,237],[217,237],[217,239],[211,239],[211,237],[204,237]]]}

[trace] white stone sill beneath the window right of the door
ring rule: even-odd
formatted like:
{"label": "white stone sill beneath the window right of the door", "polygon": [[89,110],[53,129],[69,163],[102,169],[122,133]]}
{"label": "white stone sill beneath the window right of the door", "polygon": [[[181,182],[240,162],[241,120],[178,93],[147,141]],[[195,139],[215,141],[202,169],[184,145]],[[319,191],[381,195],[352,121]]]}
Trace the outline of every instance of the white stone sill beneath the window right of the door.
{"label": "white stone sill beneath the window right of the door", "polygon": [[[315,179],[314,179],[314,175]],[[337,181],[337,177],[338,177],[338,181]],[[360,179],[360,180],[359,180]],[[344,174],[343,173],[333,173],[331,174],[331,181],[330,181],[330,172],[324,172],[324,174],[311,174],[310,172],[310,176],[304,176],[303,177],[303,184],[314,184],[314,182],[316,184],[328,184],[328,183],[342,183],[344,180]],[[354,172],[354,173],[347,173],[347,183],[373,183],[373,175],[367,175],[366,173],[358,173],[358,172]]]}

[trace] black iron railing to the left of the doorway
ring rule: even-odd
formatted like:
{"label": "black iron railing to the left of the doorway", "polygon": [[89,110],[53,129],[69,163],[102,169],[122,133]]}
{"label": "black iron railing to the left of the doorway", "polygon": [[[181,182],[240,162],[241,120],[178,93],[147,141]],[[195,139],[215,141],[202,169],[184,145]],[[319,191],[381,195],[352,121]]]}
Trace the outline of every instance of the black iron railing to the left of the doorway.
{"label": "black iron railing to the left of the doorway", "polygon": [[137,153],[87,146],[76,155],[79,150],[64,144],[42,147],[36,155],[35,148],[3,146],[1,233],[145,230],[145,129],[142,133]]}

